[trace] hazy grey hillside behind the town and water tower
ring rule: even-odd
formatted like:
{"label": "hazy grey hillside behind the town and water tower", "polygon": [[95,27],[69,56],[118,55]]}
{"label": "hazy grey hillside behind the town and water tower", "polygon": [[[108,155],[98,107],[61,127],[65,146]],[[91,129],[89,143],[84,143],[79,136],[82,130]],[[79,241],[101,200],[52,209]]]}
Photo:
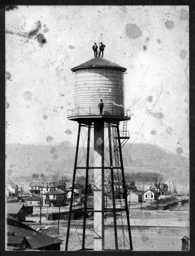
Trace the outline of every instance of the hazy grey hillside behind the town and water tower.
{"label": "hazy grey hillside behind the town and water tower", "polygon": [[[181,184],[188,184],[189,160],[181,154],[173,155],[157,146],[143,143],[125,144],[122,150],[125,172],[154,171],[161,173],[164,181],[177,179]],[[33,173],[72,175],[74,158],[74,147],[7,144],[6,172],[11,169],[12,178],[31,176]]]}

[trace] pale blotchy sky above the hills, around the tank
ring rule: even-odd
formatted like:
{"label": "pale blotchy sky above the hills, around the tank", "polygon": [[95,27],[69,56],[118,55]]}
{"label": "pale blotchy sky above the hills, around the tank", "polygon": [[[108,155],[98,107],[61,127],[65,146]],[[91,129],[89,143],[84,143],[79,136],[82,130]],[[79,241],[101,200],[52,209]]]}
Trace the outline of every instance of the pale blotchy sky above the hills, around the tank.
{"label": "pale blotchy sky above the hills, around the tank", "polygon": [[128,143],[189,151],[188,6],[17,6],[5,11],[6,144],[75,146],[71,68],[104,58],[127,68]]}

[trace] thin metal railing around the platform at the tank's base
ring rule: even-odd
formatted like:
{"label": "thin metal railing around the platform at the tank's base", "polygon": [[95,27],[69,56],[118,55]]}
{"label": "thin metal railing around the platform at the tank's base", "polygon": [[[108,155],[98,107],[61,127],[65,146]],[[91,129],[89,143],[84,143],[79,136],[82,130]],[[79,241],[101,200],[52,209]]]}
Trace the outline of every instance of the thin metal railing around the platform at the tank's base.
{"label": "thin metal railing around the platform at the tank's base", "polygon": [[[68,109],[68,117],[99,116],[99,115],[100,115],[100,109],[98,107],[83,107],[83,108],[77,107],[77,108]],[[124,109],[118,106],[103,108],[102,115],[131,117],[129,109]]]}

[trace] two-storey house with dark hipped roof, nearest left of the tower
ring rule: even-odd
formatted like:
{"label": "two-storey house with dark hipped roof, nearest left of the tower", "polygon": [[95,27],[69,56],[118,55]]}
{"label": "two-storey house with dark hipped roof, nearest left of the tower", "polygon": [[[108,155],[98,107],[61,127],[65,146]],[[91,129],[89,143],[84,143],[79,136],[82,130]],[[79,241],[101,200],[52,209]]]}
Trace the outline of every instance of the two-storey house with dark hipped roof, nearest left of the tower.
{"label": "two-storey house with dark hipped roof, nearest left of the tower", "polygon": [[43,206],[63,206],[66,204],[66,192],[55,189],[43,194]]}

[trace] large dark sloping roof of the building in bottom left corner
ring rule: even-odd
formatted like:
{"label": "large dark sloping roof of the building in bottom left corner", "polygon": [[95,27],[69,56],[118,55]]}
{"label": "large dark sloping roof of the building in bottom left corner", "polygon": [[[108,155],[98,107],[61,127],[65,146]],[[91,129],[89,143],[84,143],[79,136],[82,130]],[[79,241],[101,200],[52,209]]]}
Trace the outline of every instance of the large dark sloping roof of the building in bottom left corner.
{"label": "large dark sloping roof of the building in bottom left corner", "polygon": [[43,235],[10,215],[7,215],[7,233],[8,232],[15,233],[15,236],[7,236],[7,244],[21,244],[25,237],[32,249],[59,244],[63,241],[55,237]]}

